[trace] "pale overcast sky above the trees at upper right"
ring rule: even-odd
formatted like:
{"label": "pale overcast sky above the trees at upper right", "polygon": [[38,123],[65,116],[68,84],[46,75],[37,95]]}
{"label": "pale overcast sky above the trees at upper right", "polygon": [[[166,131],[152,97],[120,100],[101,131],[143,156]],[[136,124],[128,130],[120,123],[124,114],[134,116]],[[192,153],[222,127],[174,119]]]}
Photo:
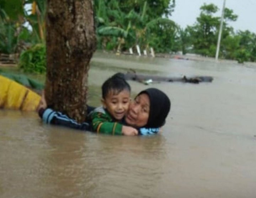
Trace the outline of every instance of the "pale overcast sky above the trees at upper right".
{"label": "pale overcast sky above the trees at upper right", "polygon": [[[200,7],[206,3],[213,3],[218,6],[218,16],[221,16],[224,0],[176,0],[176,6],[172,16],[169,18],[185,28],[187,25],[193,25],[200,14]],[[235,22],[229,22],[229,25],[237,30],[249,30],[256,33],[256,0],[226,0],[226,6],[232,9],[234,14],[238,15]]]}

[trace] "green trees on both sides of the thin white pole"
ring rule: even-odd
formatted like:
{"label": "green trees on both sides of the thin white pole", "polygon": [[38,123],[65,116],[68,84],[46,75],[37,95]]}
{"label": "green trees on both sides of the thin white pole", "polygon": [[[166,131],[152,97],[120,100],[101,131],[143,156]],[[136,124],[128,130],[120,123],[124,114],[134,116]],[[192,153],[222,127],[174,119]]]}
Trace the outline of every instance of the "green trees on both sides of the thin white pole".
{"label": "green trees on both sides of the thin white pole", "polygon": [[[214,4],[204,4],[200,9],[201,13],[195,25],[187,27],[189,39],[185,40],[185,43],[192,44],[194,53],[214,57],[220,17],[214,17],[213,14],[218,11],[218,7]],[[256,35],[250,31],[239,31],[235,34],[233,28],[228,26],[228,21],[236,21],[237,18],[238,15],[235,15],[233,10],[225,8],[219,56],[225,59],[238,60],[239,63],[255,61]],[[182,36],[180,34],[180,37]]]}

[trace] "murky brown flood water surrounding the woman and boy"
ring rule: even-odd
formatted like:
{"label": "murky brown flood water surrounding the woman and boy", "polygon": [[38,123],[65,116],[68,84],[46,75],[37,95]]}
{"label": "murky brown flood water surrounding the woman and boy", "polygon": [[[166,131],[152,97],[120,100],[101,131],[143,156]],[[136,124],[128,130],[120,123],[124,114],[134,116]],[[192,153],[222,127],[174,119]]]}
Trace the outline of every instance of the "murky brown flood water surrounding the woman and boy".
{"label": "murky brown flood water surrounding the woman and boy", "polygon": [[96,53],[89,104],[100,85],[128,69],[160,76],[213,76],[212,83],[129,81],[172,106],[151,137],[96,135],[44,125],[35,112],[0,111],[0,197],[256,196],[256,66]]}

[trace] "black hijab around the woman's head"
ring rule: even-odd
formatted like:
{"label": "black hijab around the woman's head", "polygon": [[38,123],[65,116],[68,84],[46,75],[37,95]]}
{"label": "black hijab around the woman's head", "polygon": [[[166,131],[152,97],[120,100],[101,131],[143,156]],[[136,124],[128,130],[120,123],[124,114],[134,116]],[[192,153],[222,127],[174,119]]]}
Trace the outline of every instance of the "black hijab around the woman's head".
{"label": "black hijab around the woman's head", "polygon": [[146,93],[149,96],[150,110],[146,128],[158,128],[165,124],[165,119],[171,108],[171,101],[164,92],[156,88],[143,90],[138,95]]}

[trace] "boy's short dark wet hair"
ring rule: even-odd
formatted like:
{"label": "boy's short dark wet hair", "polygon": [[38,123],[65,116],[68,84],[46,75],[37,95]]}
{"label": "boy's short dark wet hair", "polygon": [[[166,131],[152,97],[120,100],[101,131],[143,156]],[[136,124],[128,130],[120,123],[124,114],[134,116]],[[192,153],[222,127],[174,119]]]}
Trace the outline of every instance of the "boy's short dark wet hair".
{"label": "boy's short dark wet hair", "polygon": [[110,91],[113,91],[114,95],[117,95],[123,90],[128,90],[130,92],[130,85],[126,82],[124,74],[116,73],[107,79],[101,86],[102,98],[106,99]]}

